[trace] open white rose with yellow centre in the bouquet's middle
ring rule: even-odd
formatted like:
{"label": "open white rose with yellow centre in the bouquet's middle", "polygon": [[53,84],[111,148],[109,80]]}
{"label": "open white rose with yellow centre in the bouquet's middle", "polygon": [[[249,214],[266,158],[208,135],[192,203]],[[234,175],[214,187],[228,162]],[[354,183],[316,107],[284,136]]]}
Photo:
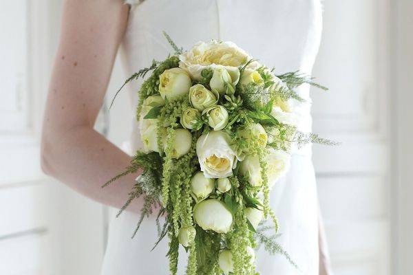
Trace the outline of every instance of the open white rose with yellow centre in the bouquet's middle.
{"label": "open white rose with yellow centre in the bouquet's middle", "polygon": [[201,135],[196,142],[196,154],[205,177],[220,178],[232,175],[237,155],[230,146],[231,137],[223,131]]}

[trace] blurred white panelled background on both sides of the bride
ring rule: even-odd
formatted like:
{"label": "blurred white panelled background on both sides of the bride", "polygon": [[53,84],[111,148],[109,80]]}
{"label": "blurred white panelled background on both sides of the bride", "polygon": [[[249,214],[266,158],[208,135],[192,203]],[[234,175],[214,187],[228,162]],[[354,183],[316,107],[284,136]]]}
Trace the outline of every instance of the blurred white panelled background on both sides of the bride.
{"label": "blurred white panelled background on both sides of the bride", "polygon": [[[61,0],[0,0],[0,274],[97,275],[105,206],[41,173],[43,104]],[[337,275],[413,270],[413,1],[326,0],[314,69],[314,131],[343,142],[315,146],[314,162]],[[136,68],[139,69],[139,68]],[[123,83],[117,62],[108,89]],[[122,144],[126,94],[98,129]]]}

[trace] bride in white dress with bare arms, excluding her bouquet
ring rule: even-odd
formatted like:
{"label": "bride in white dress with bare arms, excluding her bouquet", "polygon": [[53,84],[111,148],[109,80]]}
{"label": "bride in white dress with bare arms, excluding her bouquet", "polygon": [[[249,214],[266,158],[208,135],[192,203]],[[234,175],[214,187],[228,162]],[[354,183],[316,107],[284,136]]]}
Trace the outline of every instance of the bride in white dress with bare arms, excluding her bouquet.
{"label": "bride in white dress with bare arms, excluding her bouquet", "polygon": [[[262,58],[262,63],[275,66],[277,73],[299,69],[310,74],[321,37],[320,1],[65,0],[43,123],[43,170],[83,195],[119,208],[137,175],[100,188],[128,166],[131,157],[93,129],[118,49],[132,74],[151,64],[151,58],[167,56],[165,30],[186,49],[199,40],[233,41]],[[297,92],[310,102],[308,87],[303,85]],[[132,92],[131,104],[135,102]],[[310,131],[309,104],[297,107],[295,113],[304,121],[301,131]],[[140,135],[135,122],[131,129],[136,149]],[[258,271],[331,274],[310,146],[294,153],[290,172],[273,189],[271,201],[281,222],[279,243],[299,270],[284,257],[259,250]],[[157,237],[153,217],[130,239],[141,207],[142,201],[136,199],[129,212],[112,221],[102,274],[167,274],[166,241],[150,252]]]}

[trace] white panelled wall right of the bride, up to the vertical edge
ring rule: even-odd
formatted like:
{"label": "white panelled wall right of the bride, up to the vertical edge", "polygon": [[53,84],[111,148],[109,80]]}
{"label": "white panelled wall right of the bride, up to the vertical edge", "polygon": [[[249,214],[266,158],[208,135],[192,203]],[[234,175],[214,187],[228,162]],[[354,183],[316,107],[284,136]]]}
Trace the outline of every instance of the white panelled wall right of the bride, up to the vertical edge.
{"label": "white panelled wall right of the bride, up to the vertical edge", "polygon": [[314,76],[321,210],[335,274],[390,274],[390,1],[324,1]]}

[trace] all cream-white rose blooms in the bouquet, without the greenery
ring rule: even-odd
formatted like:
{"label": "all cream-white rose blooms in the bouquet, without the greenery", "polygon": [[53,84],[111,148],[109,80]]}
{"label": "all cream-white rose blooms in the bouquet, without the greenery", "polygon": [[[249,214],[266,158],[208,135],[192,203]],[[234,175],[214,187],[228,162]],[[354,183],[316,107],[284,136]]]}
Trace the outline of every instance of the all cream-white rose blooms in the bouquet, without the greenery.
{"label": "all cream-white rose blooms in the bouquet, without the greenery", "polygon": [[[229,177],[233,175],[233,169],[237,165],[239,173],[248,178],[251,186],[260,187],[263,184],[258,156],[248,155],[248,152],[240,154],[233,148],[229,133],[224,131],[229,123],[229,111],[218,104],[220,97],[226,93],[228,84],[235,87],[239,82],[241,85],[249,83],[260,85],[262,83],[262,76],[257,72],[260,64],[256,61],[240,73],[239,67],[251,59],[251,56],[248,56],[246,52],[231,42],[200,42],[189,52],[180,56],[180,67],[167,69],[160,75],[160,94],[149,96],[143,102],[140,131],[142,144],[147,152],[160,151],[158,148],[158,119],[143,119],[143,117],[153,107],[165,105],[165,100],[188,95],[191,104],[191,107],[185,109],[180,116],[182,128],[174,130],[174,158],[179,158],[189,152],[192,140],[191,131],[196,131],[202,126],[200,118],[204,118],[204,121],[211,127],[211,131],[200,135],[196,142],[200,171],[195,173],[191,179],[191,195],[196,202],[193,208],[193,217],[203,230],[227,233],[231,229],[233,215],[223,201],[209,196],[214,190],[218,194],[231,190]],[[192,85],[193,80],[202,78],[202,70],[204,69],[213,72],[209,82],[210,89],[202,84]],[[274,80],[277,81],[275,76]],[[282,84],[282,81],[279,80],[279,83]],[[283,124],[294,124],[295,118],[290,104],[281,101],[276,103],[278,104],[274,104],[271,115]],[[165,129],[169,126],[167,121],[164,126]],[[263,147],[272,141],[274,135],[274,133],[267,133],[266,129],[258,123],[253,124],[248,129],[240,127],[237,131],[246,140],[255,138]],[[163,144],[165,143],[164,141]],[[270,187],[286,173],[289,163],[290,155],[288,153],[268,148],[266,164]],[[257,208],[246,208],[244,214],[254,228],[257,228],[263,218],[262,210]],[[193,227],[180,228],[179,241],[182,245],[189,245],[194,236],[195,229]],[[254,260],[253,249],[248,251]],[[220,253],[219,263],[225,274],[233,271],[231,258],[229,250],[223,250]]]}

